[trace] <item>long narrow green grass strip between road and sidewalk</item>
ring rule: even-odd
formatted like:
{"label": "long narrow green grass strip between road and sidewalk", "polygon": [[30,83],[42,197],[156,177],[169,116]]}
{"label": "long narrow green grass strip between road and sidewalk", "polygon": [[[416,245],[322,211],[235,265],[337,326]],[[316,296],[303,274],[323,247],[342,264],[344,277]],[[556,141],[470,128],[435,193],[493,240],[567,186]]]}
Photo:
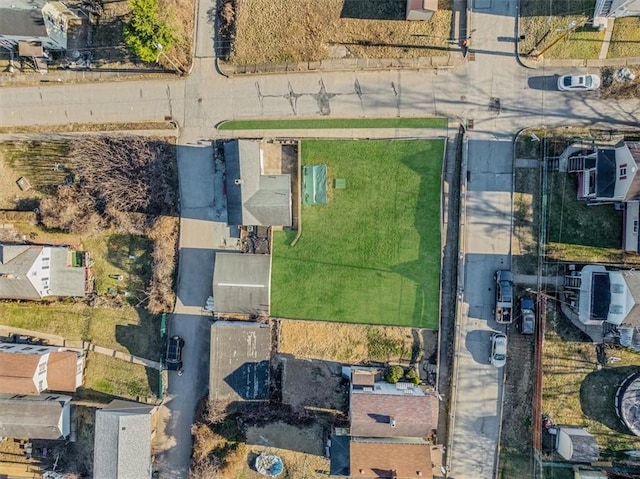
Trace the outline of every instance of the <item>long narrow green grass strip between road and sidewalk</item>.
{"label": "long narrow green grass strip between road and sidewalk", "polygon": [[313,130],[323,128],[446,128],[446,118],[328,118],[308,120],[232,120],[218,130]]}

